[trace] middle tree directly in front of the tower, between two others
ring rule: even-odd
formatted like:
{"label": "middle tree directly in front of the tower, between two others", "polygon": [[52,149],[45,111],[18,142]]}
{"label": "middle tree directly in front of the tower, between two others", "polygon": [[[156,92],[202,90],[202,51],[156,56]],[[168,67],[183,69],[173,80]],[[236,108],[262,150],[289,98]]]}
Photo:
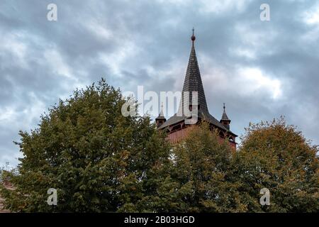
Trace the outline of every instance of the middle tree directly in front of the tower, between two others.
{"label": "middle tree directly in front of the tower, between two others", "polygon": [[212,132],[208,123],[193,126],[186,139],[172,150],[169,177],[162,180],[157,190],[158,210],[245,211],[236,182],[228,179],[233,153],[227,139],[218,142],[217,131]]}

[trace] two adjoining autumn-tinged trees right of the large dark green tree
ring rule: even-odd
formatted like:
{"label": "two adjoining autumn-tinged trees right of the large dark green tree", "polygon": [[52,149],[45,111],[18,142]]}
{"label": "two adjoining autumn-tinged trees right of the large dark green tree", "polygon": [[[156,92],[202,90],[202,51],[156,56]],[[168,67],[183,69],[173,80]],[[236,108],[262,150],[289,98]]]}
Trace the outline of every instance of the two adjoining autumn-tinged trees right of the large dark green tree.
{"label": "two adjoining autumn-tinged trees right of the large dark green tree", "polygon": [[[317,152],[283,118],[251,124],[237,152],[202,123],[172,150],[153,205],[164,212],[318,212]],[[263,188],[270,206],[259,203]]]}

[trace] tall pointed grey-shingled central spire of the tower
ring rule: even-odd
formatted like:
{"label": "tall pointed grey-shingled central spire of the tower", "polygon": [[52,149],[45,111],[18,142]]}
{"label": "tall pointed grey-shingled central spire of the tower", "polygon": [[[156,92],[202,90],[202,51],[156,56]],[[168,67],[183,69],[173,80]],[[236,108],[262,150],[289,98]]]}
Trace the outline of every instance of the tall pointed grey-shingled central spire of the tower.
{"label": "tall pointed grey-shingled central spire of the tower", "polygon": [[[203,90],[203,83],[201,82],[201,72],[199,72],[196,52],[195,52],[195,45],[194,42],[196,40],[196,37],[194,35],[194,28],[193,28],[193,35],[191,36],[191,54],[189,55],[189,65],[187,66],[186,70],[186,76],[184,80],[184,86],[183,86],[183,92],[181,96],[181,102],[179,104],[179,113],[183,113],[183,109],[181,109],[183,106],[184,108],[189,108],[188,105],[191,106],[192,104],[192,95],[191,92],[198,92],[198,112],[201,114],[204,114],[206,116],[209,115],[207,103],[206,103],[206,97]],[[189,102],[184,100],[184,92],[189,92],[189,97],[186,97],[186,99],[189,99]]]}

